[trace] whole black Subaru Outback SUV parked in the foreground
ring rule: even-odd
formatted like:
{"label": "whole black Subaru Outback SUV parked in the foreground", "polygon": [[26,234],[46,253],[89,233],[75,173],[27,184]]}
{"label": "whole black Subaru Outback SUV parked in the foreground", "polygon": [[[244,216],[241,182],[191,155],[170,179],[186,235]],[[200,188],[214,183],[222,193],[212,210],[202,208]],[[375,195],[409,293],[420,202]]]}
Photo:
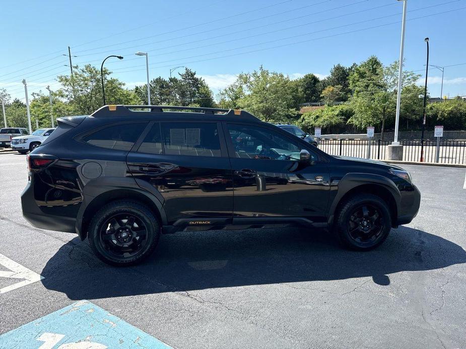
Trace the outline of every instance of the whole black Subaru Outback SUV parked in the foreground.
{"label": "whole black Subaru Outback SUV parked in the foreground", "polygon": [[404,169],[328,155],[242,110],[105,106],[58,119],[28,165],[24,217],[113,265],[180,230],[329,228],[368,250],[420,204]]}

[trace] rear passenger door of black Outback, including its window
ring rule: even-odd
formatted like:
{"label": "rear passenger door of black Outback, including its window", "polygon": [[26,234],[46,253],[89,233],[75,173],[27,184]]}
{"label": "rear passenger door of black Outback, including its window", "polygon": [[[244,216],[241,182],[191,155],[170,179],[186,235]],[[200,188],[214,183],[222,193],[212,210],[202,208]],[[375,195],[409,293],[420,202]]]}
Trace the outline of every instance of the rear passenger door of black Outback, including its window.
{"label": "rear passenger door of black Outback, including its window", "polygon": [[141,188],[162,198],[169,224],[231,219],[232,171],[220,123],[152,122],[127,164]]}

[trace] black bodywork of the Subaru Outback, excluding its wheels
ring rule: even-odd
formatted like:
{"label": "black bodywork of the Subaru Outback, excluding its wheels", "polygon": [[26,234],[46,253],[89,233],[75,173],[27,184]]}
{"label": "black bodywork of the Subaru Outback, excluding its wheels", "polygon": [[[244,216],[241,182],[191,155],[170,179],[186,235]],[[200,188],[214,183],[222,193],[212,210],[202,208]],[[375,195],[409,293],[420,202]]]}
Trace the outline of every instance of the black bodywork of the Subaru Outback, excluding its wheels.
{"label": "black bodywork of the Subaru Outback, excluding its wheels", "polygon": [[[390,203],[393,226],[417,214],[418,189],[389,171],[399,167],[330,156],[244,111],[171,111],[176,108],[134,112],[103,107],[89,117],[59,119],[53,137],[29,155],[24,217],[38,228],[76,232],[84,239],[103,205],[128,199],[151,208],[164,233],[272,224],[326,227],[342,199],[358,190],[375,191]],[[259,152],[246,158],[238,145],[259,150],[249,136],[238,133],[239,125],[289,140],[309,151],[312,160],[303,164],[294,153],[277,154],[274,148],[274,155]],[[160,140],[146,142],[157,128]],[[109,136],[110,141],[89,140],[116,129],[123,132]],[[173,146],[180,137],[195,146]],[[41,159],[50,161],[42,165],[36,161]]]}

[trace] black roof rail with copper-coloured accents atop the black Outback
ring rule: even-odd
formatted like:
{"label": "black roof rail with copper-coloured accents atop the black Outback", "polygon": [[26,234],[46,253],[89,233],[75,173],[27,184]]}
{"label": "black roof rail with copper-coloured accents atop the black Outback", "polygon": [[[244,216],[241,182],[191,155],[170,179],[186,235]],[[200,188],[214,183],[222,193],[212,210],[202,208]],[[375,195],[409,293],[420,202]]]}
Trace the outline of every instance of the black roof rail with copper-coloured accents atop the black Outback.
{"label": "black roof rail with copper-coloured accents atop the black Outback", "polygon": [[[139,109],[139,111],[138,111]],[[164,111],[166,110],[166,111]],[[102,117],[119,117],[135,115],[154,115],[160,113],[170,113],[173,116],[175,111],[185,111],[192,113],[202,113],[205,115],[222,115],[236,116],[257,119],[252,114],[239,109],[221,109],[221,108],[204,108],[204,107],[178,107],[178,106],[124,106],[124,105],[108,105],[103,106],[91,114],[94,118]],[[257,119],[258,120],[258,119]]]}

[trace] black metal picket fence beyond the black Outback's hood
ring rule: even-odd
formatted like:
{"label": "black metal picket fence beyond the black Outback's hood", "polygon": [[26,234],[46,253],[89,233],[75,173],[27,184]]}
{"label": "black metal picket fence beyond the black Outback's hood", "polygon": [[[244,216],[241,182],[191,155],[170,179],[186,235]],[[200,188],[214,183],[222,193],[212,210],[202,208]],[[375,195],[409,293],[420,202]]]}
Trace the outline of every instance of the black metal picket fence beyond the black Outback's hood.
{"label": "black metal picket fence beyond the black Outback's hood", "polygon": [[[331,155],[343,155],[375,160],[385,160],[387,145],[391,140],[371,140],[369,152],[369,140],[367,139],[321,139],[318,147]],[[436,162],[437,141],[425,140],[424,161]],[[401,140],[404,161],[420,161],[421,141]],[[443,140],[438,147],[439,163],[466,164],[466,141]]]}

